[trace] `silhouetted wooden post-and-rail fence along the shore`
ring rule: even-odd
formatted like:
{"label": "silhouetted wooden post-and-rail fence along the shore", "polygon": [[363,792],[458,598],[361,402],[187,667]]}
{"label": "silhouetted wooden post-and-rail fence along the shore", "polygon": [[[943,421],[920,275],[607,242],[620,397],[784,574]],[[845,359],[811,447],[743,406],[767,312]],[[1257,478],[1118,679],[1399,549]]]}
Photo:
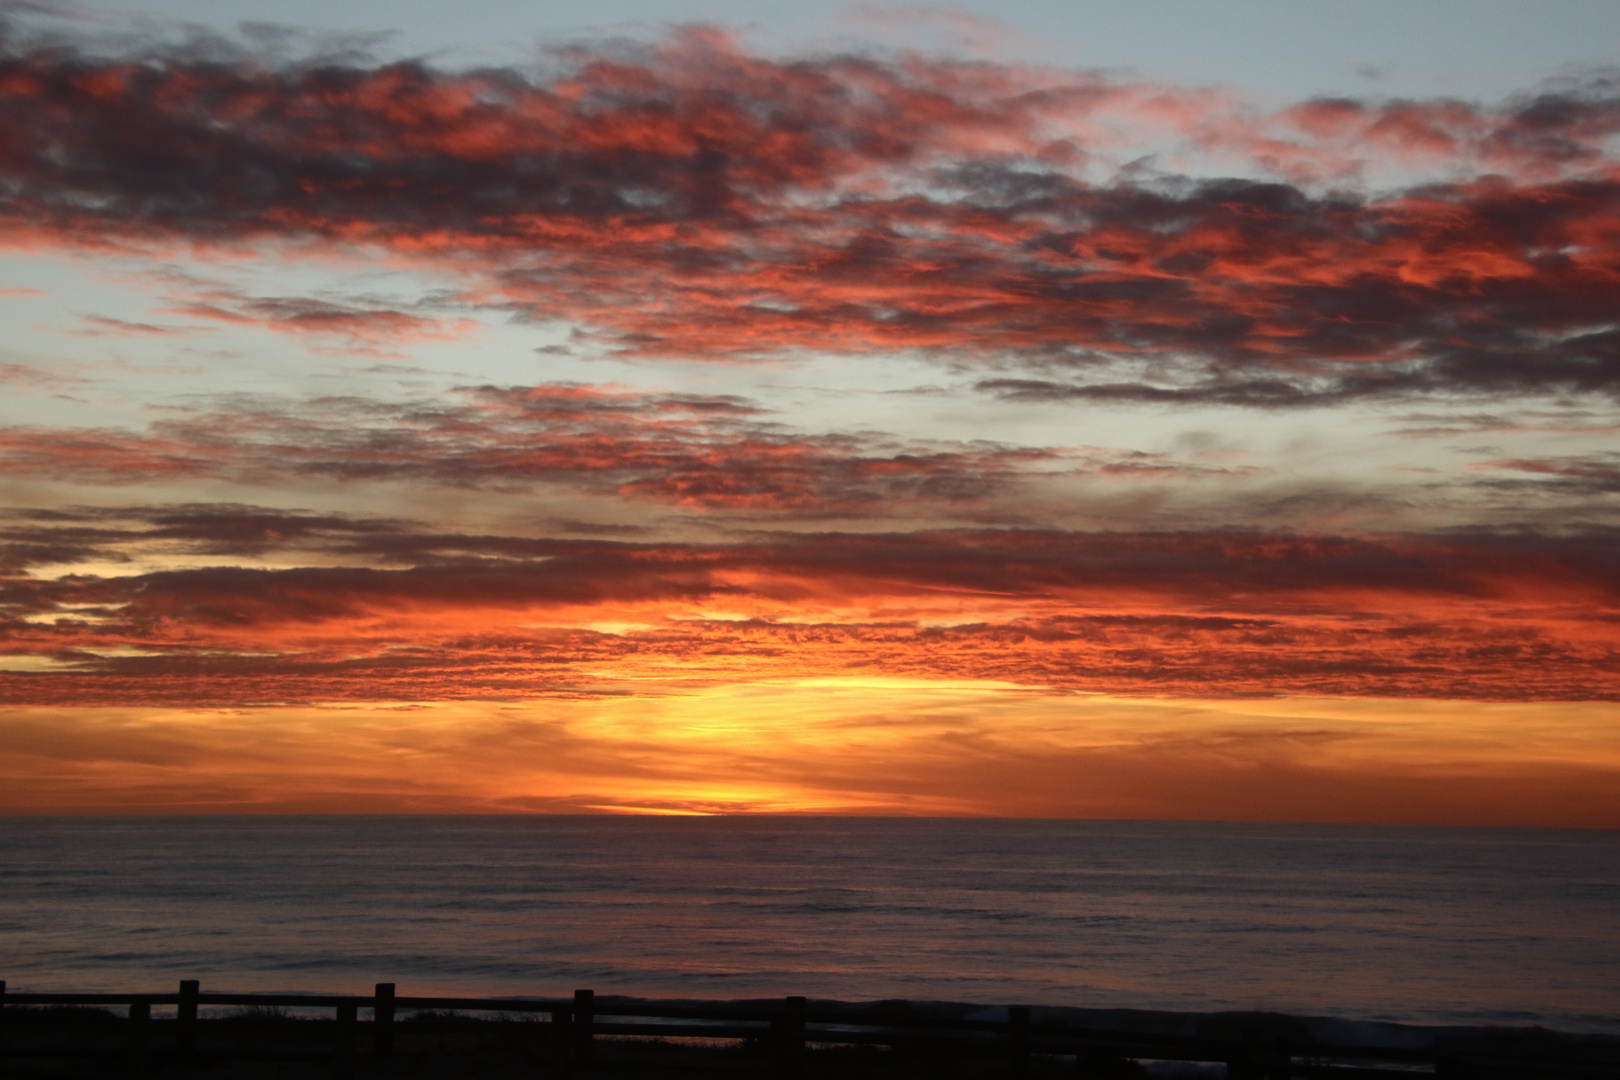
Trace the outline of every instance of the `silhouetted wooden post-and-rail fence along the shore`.
{"label": "silhouetted wooden post-and-rail fence along the shore", "polygon": [[[1482,1065],[1477,1052],[1445,1046],[1413,1049],[1400,1046],[1324,1044],[1301,1038],[1298,1025],[1267,1023],[1256,1017],[1243,1027],[1243,1015],[1233,1015],[1220,1038],[1176,1036],[1142,1031],[1098,1030],[1032,1017],[1029,1007],[1008,1009],[1006,1020],[970,1020],[933,1015],[920,1009],[815,1006],[804,997],[776,1002],[656,1002],[640,999],[598,999],[591,991],[575,991],[567,999],[530,997],[410,997],[395,993],[394,983],[377,983],[368,996],[330,994],[212,994],[202,993],[196,980],[180,983],[173,994],[6,994],[0,981],[0,1069],[11,1057],[71,1057],[73,1048],[40,1048],[8,1038],[6,1028],[18,1028],[23,1017],[18,1006],[87,1006],[123,1010],[118,1017],[120,1043],[100,1046],[83,1056],[118,1057],[125,1072],[149,1074],[168,1065],[186,1065],[233,1059],[321,1059],[329,1061],[332,1075],[353,1077],[363,1062],[371,1074],[395,1052],[395,1033],[407,1023],[402,1012],[428,1014],[426,1023],[454,1027],[455,1015],[497,1014],[505,1020],[528,1020],[539,1072],[562,1075],[590,1070],[593,1044],[601,1036],[654,1036],[659,1040],[747,1040],[768,1052],[784,1074],[800,1072],[808,1046],[888,1046],[923,1051],[961,1051],[964,1054],[1000,1057],[1006,1075],[1029,1077],[1030,1062],[1072,1059],[1079,1075],[1108,1075],[1123,1062],[1192,1062],[1225,1065],[1231,1080],[1359,1080],[1390,1077],[1413,1080],[1424,1074],[1490,1075],[1490,1077],[1610,1077],[1620,1072],[1594,1072],[1583,1062],[1537,1061],[1492,1062]],[[154,1017],[162,1009],[165,1015]],[[199,1031],[224,1027],[219,1012],[235,1009],[238,1017],[275,1015],[275,1010],[332,1010],[335,1023],[324,1049],[266,1049],[232,1046]],[[168,1015],[172,1010],[172,1017]],[[6,1014],[11,1023],[6,1023]],[[211,1012],[215,1014],[211,1018]],[[361,1015],[363,1012],[369,1015]],[[446,1015],[455,1014],[455,1015]],[[34,1012],[32,1015],[42,1015]],[[421,1022],[408,1022],[411,1028]],[[324,1025],[322,1025],[324,1031]],[[1511,1057],[1511,1056],[1510,1056]],[[1547,1054],[1542,1054],[1545,1059]],[[369,1061],[368,1061],[369,1059]]]}

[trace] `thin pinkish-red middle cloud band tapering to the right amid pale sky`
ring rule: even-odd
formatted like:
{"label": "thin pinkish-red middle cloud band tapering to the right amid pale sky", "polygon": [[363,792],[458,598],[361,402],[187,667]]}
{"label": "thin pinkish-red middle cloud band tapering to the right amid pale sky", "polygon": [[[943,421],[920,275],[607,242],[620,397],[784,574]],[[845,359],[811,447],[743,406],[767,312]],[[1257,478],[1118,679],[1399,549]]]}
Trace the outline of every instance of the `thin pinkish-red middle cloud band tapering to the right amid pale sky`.
{"label": "thin pinkish-red middle cloud band tapering to the right amid pale sky", "polygon": [[985,500],[1047,471],[1166,479],[1212,471],[1128,450],[807,436],[734,395],[577,384],[465,387],[405,403],[241,397],[209,411],[175,411],[146,434],[0,429],[0,473],[113,484],[172,476],[549,483],[698,510],[893,513],[899,502]]}

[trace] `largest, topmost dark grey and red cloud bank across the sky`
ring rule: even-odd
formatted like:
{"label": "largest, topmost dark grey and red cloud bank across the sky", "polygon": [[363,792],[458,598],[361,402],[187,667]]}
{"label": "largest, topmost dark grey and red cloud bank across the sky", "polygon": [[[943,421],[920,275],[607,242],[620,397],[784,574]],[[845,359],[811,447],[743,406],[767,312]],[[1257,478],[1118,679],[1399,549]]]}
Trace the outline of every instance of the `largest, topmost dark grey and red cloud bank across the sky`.
{"label": "largest, topmost dark grey and red cloud bank across the sky", "polygon": [[[0,232],[369,249],[632,355],[915,350],[1059,368],[1094,400],[1620,387],[1604,73],[1265,112],[1004,63],[763,58],[714,31],[561,50],[548,74],[198,49],[13,42]],[[1136,130],[1244,175],[1111,172]],[[1359,189],[1374,167],[1408,180]],[[211,317],[442,330],[277,298]],[[1163,377],[1119,377],[1144,358]]]}

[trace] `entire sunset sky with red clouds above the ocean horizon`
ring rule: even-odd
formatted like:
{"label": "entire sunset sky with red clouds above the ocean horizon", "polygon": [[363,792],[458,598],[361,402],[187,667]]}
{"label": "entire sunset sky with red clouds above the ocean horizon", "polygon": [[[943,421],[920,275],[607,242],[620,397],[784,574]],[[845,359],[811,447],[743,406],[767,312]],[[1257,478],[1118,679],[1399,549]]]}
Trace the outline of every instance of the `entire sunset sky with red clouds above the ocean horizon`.
{"label": "entire sunset sky with red clouds above the ocean horizon", "polygon": [[588,15],[0,3],[0,813],[1620,827],[1612,2]]}

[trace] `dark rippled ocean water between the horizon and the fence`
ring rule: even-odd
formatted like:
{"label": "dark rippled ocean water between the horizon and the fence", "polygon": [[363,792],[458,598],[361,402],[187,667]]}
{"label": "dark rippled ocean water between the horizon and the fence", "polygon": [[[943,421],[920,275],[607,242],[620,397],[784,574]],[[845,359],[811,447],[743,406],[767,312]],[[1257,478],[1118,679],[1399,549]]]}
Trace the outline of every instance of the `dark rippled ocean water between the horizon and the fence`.
{"label": "dark rippled ocean water between the horizon and the fence", "polygon": [[1620,832],[0,819],[13,991],[912,997],[1620,1033]]}

